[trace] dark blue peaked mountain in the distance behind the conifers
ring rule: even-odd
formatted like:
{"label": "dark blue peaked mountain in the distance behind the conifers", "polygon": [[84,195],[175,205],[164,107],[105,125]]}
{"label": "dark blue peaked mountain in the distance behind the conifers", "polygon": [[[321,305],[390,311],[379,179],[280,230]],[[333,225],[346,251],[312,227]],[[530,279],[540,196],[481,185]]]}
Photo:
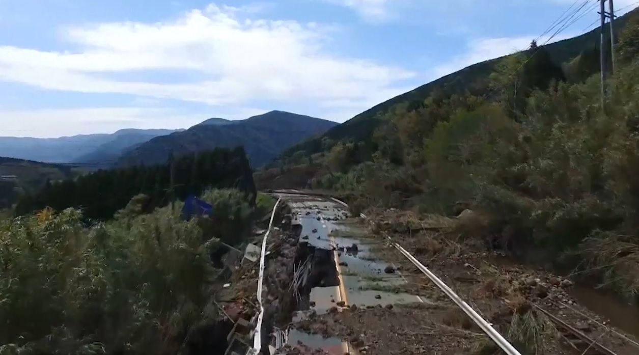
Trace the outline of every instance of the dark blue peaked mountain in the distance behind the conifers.
{"label": "dark blue peaked mountain in the distance behind the conifers", "polygon": [[179,156],[235,146],[244,146],[251,165],[261,166],[289,146],[335,125],[335,122],[283,111],[231,122],[212,118],[183,132],[157,137],[137,146],[119,159],[118,166],[166,162],[171,152]]}

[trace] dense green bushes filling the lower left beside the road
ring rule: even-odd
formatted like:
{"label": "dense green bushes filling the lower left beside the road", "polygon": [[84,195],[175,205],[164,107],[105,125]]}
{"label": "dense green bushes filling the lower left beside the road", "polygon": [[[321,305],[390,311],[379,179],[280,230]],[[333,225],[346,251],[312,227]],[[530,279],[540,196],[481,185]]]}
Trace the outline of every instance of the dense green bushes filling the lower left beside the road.
{"label": "dense green bushes filling the lower left beside the road", "polygon": [[220,239],[238,245],[247,237],[256,217],[250,197],[204,193],[219,207],[215,225],[183,220],[182,203],[145,213],[147,198],[91,225],[77,209],[0,220],[0,354],[199,354],[223,346],[214,298],[225,281],[212,256]]}

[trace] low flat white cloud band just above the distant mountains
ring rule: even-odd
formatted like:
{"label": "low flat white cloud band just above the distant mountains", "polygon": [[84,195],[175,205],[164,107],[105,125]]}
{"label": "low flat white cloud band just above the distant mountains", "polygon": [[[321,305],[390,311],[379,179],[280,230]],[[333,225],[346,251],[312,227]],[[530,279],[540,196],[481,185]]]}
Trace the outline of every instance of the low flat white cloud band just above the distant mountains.
{"label": "low flat white cloud band just above the distant mountains", "polygon": [[[215,114],[183,113],[158,107],[89,107],[72,109],[0,110],[3,136],[53,138],[75,134],[112,133],[122,128],[189,128],[212,116],[231,120],[265,113],[250,107]],[[1,155],[1,154],[0,154]]]}

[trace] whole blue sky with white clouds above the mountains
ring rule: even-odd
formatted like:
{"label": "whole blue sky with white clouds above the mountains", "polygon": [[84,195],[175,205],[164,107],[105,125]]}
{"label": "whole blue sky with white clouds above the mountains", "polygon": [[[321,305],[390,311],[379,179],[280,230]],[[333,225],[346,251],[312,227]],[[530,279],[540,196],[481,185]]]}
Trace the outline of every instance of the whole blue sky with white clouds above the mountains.
{"label": "whole blue sky with white clouds above the mountains", "polygon": [[[273,109],[344,122],[525,49],[583,1],[0,0],[0,136],[188,128]],[[551,42],[597,26],[588,1]],[[615,0],[618,15],[638,5]]]}

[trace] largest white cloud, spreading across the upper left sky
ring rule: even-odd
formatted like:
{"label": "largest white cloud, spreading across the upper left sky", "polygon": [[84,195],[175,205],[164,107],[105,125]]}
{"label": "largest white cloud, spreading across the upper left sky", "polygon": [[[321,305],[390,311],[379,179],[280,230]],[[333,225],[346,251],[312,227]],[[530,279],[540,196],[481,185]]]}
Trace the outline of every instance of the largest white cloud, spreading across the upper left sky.
{"label": "largest white cloud, spreading across the upper left sky", "polygon": [[[364,102],[392,97],[414,74],[325,48],[327,30],[314,23],[251,19],[246,9],[209,5],[176,20],[146,24],[114,22],[62,31],[75,51],[0,47],[0,80],[47,90],[125,93],[206,104]],[[161,78],[187,70],[201,79],[164,83],[122,80],[144,70]],[[189,75],[192,77],[193,75]]]}

